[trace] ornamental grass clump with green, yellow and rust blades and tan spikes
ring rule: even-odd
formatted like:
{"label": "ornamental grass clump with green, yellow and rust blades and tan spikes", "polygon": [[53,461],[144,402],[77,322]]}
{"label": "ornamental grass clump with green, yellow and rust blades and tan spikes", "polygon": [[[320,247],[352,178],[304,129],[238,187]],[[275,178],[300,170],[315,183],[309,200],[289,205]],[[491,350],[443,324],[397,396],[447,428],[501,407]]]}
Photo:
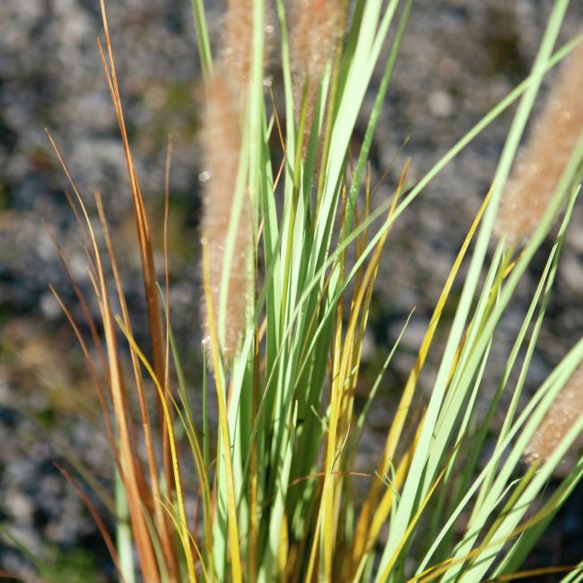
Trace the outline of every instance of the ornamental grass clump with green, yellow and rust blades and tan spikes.
{"label": "ornamental grass clump with green, yellow and rust blades and tan spikes", "polygon": [[[370,147],[412,4],[229,0],[222,38],[211,48],[204,5],[194,0],[208,180],[202,258],[192,266],[203,285],[192,309],[203,313],[205,369],[200,379],[187,379],[171,324],[190,316],[172,311],[167,247],[166,276],[156,276],[152,231],[161,229],[167,240],[168,222],[148,219],[115,69],[115,26],[101,0],[100,56],[126,156],[150,342],[135,341],[100,196],[90,216],[53,142],[74,187],[100,309],[94,321],[75,287],[91,337],[55,293],[100,397],[116,476],[115,533],[85,500],[120,581],[469,583],[525,576],[523,561],[583,476],[579,457],[537,505],[583,430],[583,339],[534,396],[522,395],[565,233],[578,228],[570,218],[582,177],[583,45],[579,36],[555,47],[569,2],[554,3],[526,80],[422,178],[413,182],[405,162],[391,196],[380,199],[367,171]],[[512,170],[544,74],[563,59],[550,105]],[[379,71],[366,133],[353,152],[357,117]],[[281,102],[270,84],[279,74]],[[378,466],[357,474],[370,407],[399,350],[397,339],[357,406],[372,291],[391,229],[432,178],[513,104],[492,187],[387,416]],[[167,178],[170,157],[171,146]],[[497,328],[546,238],[546,264],[484,417],[477,404]],[[446,308],[454,317],[423,399],[418,381]],[[422,400],[421,413],[413,399]],[[492,443],[488,434],[500,415]],[[564,571],[564,582],[583,580],[583,563]]]}

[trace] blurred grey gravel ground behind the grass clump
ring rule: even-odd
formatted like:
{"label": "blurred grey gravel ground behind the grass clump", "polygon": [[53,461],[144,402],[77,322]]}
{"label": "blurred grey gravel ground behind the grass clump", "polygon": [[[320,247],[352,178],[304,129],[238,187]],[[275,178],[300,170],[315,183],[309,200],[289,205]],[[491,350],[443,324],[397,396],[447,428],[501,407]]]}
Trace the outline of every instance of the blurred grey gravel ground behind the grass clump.
{"label": "blurred grey gravel ground behind the grass clump", "polygon": [[[413,158],[413,177],[422,176],[526,76],[552,4],[415,0],[372,154],[373,178],[396,156],[379,196],[390,192],[405,157]],[[561,41],[583,23],[583,3],[571,4]],[[191,7],[188,0],[109,0],[108,9],[130,141],[152,222],[160,226],[166,145],[168,135],[173,138],[170,304],[179,315],[174,326],[187,368],[194,371],[200,346],[193,332],[200,301],[197,193],[204,169],[196,147],[199,75]],[[214,30],[220,28],[221,11],[216,3],[209,7]],[[83,503],[53,464],[66,464],[74,455],[108,484],[111,463],[93,390],[48,283],[77,315],[74,295],[42,224],[48,223],[77,281],[89,291],[78,227],[64,194],[68,185],[48,144],[47,126],[90,208],[94,191],[104,198],[139,337],[139,258],[123,152],[95,43],[100,34],[98,0],[0,2],[0,570],[21,572],[26,580],[33,580],[30,558],[1,533],[11,533],[38,554],[54,580],[109,580],[112,572]],[[365,114],[373,100],[371,92]],[[388,404],[413,363],[452,257],[489,187],[509,121],[510,114],[500,117],[450,163],[399,219],[389,239],[365,355],[371,373],[406,315],[413,306],[416,310],[379,397],[387,406],[373,409],[363,441],[360,463],[369,470],[387,427]],[[407,136],[405,152],[399,153]],[[528,380],[531,388],[583,330],[582,219],[578,204]],[[486,398],[540,266],[534,262],[505,318],[484,381]],[[438,360],[439,353],[429,363],[423,387],[431,387]],[[365,375],[363,388],[366,382]],[[581,516],[579,488],[533,561],[579,561]]]}

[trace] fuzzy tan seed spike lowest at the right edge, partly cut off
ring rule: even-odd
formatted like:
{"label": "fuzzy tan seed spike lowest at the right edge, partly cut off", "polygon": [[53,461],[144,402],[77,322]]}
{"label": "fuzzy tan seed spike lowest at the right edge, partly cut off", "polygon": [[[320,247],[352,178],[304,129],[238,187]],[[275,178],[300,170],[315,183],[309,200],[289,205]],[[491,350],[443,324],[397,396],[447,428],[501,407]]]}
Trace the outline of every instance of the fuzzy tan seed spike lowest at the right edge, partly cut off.
{"label": "fuzzy tan seed spike lowest at the right edge, partly cut off", "polygon": [[[551,457],[581,413],[583,413],[583,364],[579,364],[579,368],[562,387],[543,422],[535,431],[525,450],[526,461],[529,464],[544,463]],[[573,448],[580,446],[583,446],[581,435],[576,439]]]}

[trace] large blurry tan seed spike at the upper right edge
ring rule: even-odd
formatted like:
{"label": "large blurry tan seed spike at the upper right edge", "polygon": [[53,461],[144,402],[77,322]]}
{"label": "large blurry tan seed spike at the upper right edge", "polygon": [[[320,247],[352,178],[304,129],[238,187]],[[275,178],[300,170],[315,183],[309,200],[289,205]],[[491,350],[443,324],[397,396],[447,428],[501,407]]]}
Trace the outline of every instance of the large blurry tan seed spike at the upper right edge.
{"label": "large blurry tan seed spike at the upper right edge", "polygon": [[581,133],[583,43],[573,50],[561,68],[509,178],[496,226],[498,234],[509,244],[525,242],[535,231]]}

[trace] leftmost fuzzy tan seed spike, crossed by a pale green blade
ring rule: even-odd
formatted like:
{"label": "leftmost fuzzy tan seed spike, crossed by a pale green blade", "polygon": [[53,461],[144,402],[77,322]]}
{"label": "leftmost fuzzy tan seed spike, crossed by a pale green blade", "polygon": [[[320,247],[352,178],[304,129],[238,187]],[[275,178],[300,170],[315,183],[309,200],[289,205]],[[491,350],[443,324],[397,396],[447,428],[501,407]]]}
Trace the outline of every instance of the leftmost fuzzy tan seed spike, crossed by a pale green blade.
{"label": "leftmost fuzzy tan seed spike, crossed by a pale green blade", "polygon": [[[236,100],[224,80],[224,75],[220,74],[213,78],[209,87],[202,130],[205,169],[209,173],[209,178],[204,183],[202,231],[209,250],[209,285],[216,323],[219,322],[222,265],[239,169],[241,140],[239,124]],[[245,328],[249,289],[246,257],[250,244],[250,209],[248,204],[243,204],[236,233],[235,256],[229,274],[228,313],[222,345],[222,353],[226,360],[230,360],[236,352]],[[207,322],[206,317],[204,322]],[[208,329],[205,333],[205,344],[207,340]]]}

